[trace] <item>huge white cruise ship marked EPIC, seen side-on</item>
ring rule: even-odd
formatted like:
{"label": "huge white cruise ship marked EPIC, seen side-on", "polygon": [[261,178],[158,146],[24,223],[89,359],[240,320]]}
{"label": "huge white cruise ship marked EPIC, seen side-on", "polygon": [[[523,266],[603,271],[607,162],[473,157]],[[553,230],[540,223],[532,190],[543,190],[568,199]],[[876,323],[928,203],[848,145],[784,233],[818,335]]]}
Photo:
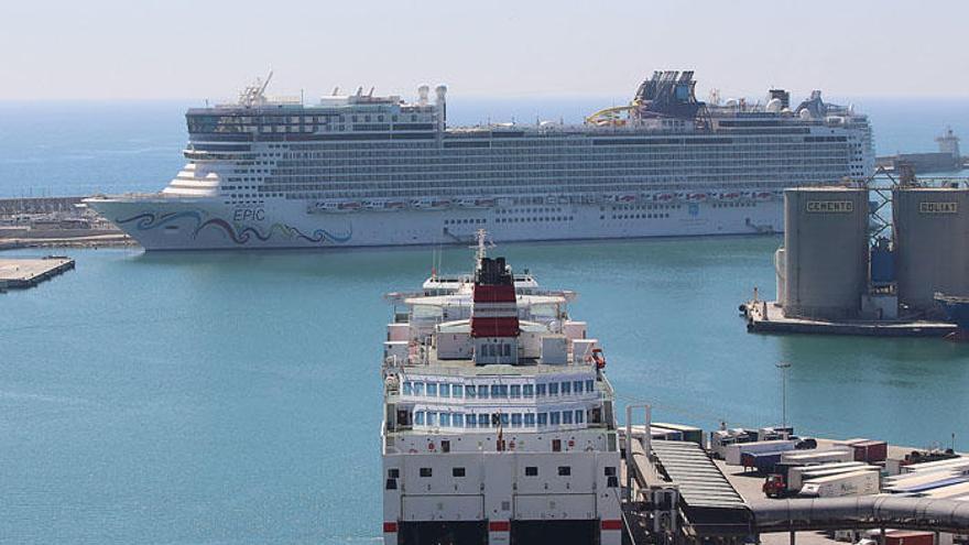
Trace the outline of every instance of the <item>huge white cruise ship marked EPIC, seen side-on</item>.
{"label": "huge white cruise ship marked EPIC, seen side-on", "polygon": [[874,171],[852,108],[782,89],[705,103],[692,72],[578,126],[449,128],[444,86],[413,103],[264,91],[189,109],[188,163],[161,193],[86,203],[148,250],[737,235],[781,231],[784,187]]}

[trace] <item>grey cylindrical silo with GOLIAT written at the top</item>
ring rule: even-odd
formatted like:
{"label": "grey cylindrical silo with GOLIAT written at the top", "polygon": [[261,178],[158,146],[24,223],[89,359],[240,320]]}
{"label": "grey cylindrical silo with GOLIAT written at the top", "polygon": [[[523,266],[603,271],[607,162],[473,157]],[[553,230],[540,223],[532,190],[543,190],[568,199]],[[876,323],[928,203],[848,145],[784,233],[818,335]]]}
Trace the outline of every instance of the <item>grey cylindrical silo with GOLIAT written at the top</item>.
{"label": "grey cylindrical silo with GOLIAT written at the top", "polygon": [[941,317],[935,292],[969,295],[969,189],[892,192],[899,302]]}

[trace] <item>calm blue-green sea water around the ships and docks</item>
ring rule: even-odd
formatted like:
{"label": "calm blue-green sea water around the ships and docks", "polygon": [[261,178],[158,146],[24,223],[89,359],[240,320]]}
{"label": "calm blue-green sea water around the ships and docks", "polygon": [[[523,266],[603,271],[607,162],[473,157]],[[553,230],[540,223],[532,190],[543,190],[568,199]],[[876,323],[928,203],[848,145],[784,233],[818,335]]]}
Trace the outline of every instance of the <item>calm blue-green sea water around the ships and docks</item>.
{"label": "calm blue-green sea water around the ships and docks", "polygon": [[[0,192],[157,189],[182,163],[184,106],[4,105]],[[559,106],[548,117],[588,109]],[[889,118],[912,139],[890,150],[932,149],[962,108]],[[652,402],[657,419],[776,423],[774,364],[790,361],[802,433],[914,446],[955,433],[969,449],[969,346],[745,333],[737,305],[753,286],[773,293],[779,243],[499,251],[579,291],[573,313],[622,400]],[[379,542],[381,295],[418,286],[429,249],[68,253],[75,271],[0,295],[0,543]],[[444,251],[444,269],[469,264],[468,250]]]}

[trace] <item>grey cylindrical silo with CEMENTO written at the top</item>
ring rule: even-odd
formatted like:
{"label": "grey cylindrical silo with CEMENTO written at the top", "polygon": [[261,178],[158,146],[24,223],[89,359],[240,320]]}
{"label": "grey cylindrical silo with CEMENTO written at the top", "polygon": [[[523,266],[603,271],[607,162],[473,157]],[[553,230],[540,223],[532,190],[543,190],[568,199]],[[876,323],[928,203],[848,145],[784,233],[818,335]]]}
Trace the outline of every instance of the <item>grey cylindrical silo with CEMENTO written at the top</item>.
{"label": "grey cylindrical silo with CEMENTO written at the top", "polygon": [[784,192],[784,316],[857,317],[868,290],[868,190]]}

